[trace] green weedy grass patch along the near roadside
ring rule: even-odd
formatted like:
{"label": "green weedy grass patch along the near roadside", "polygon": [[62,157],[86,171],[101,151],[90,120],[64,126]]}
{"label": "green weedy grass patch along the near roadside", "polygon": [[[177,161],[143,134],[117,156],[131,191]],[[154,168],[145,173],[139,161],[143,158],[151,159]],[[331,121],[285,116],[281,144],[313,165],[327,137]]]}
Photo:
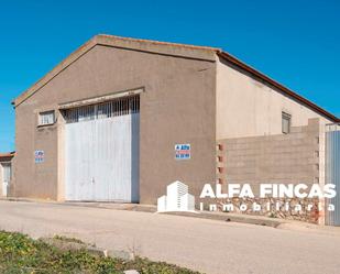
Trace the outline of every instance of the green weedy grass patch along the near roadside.
{"label": "green weedy grass patch along the near roadside", "polygon": [[[78,242],[76,239],[72,241]],[[199,274],[175,265],[151,262],[147,259],[136,257],[134,261],[123,261],[95,256],[86,250],[62,251],[21,233],[0,231],[0,273],[121,274],[124,270],[136,270],[141,274]]]}

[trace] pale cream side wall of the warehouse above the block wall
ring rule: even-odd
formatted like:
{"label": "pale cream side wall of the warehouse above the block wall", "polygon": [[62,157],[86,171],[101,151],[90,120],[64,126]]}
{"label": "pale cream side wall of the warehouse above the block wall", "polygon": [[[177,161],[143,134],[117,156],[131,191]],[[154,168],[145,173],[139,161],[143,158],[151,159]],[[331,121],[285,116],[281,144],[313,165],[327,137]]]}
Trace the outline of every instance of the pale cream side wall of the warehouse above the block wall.
{"label": "pale cream side wall of the warehouse above the block wall", "polygon": [[292,127],[320,118],[314,110],[274,90],[270,86],[217,62],[217,139],[261,136],[282,133],[282,111],[292,114]]}

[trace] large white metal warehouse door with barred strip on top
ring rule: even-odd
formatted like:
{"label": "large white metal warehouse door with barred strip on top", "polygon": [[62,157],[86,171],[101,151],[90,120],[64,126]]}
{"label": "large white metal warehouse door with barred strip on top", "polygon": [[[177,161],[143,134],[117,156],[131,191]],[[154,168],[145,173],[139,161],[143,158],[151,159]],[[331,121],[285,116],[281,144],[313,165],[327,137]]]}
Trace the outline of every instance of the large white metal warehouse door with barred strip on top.
{"label": "large white metal warehouse door with barred strip on top", "polygon": [[139,201],[139,97],[64,114],[66,200]]}

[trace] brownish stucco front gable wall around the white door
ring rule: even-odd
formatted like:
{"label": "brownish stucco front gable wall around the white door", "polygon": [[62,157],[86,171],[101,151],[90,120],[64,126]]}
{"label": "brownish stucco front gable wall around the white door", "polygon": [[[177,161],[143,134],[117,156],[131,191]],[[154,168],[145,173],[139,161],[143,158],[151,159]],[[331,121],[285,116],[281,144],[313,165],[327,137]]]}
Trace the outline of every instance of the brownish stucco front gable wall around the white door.
{"label": "brownish stucco front gable wall around the white door", "polygon": [[[37,128],[40,111],[136,87],[145,88],[140,116],[141,202],[155,204],[175,179],[198,195],[216,176],[216,66],[213,56],[209,58],[95,46],[17,107],[15,196],[63,199],[63,123],[59,117],[55,125]],[[191,144],[191,160],[175,161],[176,143]],[[45,152],[44,163],[34,163],[35,150]]]}

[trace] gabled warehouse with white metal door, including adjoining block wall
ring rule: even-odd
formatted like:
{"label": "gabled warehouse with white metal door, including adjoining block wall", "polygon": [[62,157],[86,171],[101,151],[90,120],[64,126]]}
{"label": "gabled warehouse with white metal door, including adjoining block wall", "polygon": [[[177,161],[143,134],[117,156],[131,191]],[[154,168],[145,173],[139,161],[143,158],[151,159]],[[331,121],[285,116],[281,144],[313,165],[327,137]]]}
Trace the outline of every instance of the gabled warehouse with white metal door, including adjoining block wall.
{"label": "gabled warehouse with white metal door, including adjoining block wall", "polygon": [[18,97],[10,195],[155,204],[174,180],[326,183],[339,119],[212,47],[97,35]]}

